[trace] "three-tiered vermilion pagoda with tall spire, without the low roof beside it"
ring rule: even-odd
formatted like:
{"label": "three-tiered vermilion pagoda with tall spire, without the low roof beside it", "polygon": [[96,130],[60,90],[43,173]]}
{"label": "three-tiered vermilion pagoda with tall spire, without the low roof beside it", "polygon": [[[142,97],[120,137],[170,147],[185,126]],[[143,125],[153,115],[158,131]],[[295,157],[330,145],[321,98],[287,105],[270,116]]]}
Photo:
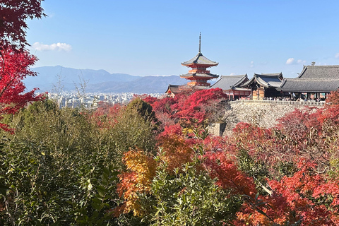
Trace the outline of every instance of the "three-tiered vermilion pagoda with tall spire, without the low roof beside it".
{"label": "three-tiered vermilion pagoda with tall spire, without the low roof beside it", "polygon": [[218,78],[219,76],[210,73],[207,69],[211,66],[217,66],[219,63],[211,61],[203,56],[201,53],[201,33],[199,35],[199,52],[196,54],[196,57],[182,63],[183,66],[191,68],[189,73],[180,75],[181,78],[186,78],[189,80],[187,85],[189,86],[202,86],[209,87],[210,83],[207,81],[213,78]]}

